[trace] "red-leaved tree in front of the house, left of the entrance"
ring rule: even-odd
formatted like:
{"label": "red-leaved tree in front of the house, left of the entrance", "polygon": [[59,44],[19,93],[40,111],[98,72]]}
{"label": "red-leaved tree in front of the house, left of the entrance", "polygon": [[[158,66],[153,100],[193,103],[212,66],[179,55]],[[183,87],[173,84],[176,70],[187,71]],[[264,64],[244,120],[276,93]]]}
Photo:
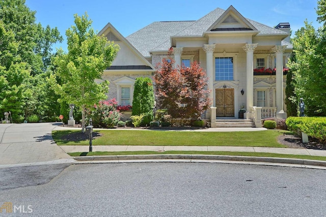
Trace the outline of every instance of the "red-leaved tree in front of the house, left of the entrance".
{"label": "red-leaved tree in front of the house, left of the entrance", "polygon": [[166,108],[173,118],[197,119],[210,105],[206,73],[196,61],[190,67],[177,69],[174,63],[169,55],[158,65],[154,75],[157,104]]}

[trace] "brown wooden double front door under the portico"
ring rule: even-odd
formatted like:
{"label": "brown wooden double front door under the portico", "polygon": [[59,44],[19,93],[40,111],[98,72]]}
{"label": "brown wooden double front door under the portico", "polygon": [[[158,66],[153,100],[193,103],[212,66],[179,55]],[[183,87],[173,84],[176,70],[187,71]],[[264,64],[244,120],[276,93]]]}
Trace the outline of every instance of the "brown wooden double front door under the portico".
{"label": "brown wooden double front door under the portico", "polygon": [[234,89],[215,89],[215,105],[217,117],[234,117]]}

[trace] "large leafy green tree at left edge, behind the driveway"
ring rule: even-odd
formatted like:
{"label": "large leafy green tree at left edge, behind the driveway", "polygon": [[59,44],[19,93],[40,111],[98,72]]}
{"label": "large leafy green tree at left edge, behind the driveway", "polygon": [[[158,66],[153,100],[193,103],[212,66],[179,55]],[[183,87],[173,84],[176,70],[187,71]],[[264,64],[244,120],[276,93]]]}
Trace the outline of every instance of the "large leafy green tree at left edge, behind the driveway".
{"label": "large leafy green tree at left edge, behind the driveway", "polygon": [[38,75],[51,65],[53,43],[63,40],[57,28],[37,24],[35,13],[24,0],[0,0],[0,110],[13,119],[37,113],[47,99]]}

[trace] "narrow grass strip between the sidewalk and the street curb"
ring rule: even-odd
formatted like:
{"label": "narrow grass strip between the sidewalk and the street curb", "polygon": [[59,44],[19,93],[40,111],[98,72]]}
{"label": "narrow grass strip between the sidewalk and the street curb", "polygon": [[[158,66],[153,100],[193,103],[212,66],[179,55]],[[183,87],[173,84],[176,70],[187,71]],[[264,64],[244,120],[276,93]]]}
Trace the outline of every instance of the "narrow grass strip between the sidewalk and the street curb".
{"label": "narrow grass strip between the sidewalk and the street curb", "polygon": [[326,161],[326,157],[279,154],[265,152],[239,152],[239,151],[95,151],[95,152],[73,152],[68,153],[72,157],[78,156],[117,156],[117,155],[134,155],[134,154],[206,154],[206,155],[228,155],[228,156],[249,156],[249,157],[269,157],[269,158],[294,158],[306,160]]}

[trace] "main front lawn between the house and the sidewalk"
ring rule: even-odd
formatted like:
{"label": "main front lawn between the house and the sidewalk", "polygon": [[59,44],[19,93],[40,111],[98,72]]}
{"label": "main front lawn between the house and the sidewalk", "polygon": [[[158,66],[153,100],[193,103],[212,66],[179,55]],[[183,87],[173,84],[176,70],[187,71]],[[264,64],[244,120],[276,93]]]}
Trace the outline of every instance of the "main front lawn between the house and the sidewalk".
{"label": "main front lawn between the house and the sidewalk", "polygon": [[[69,141],[64,135],[80,131],[53,131],[58,145],[89,145],[89,140]],[[149,131],[149,130],[102,130],[102,136],[93,140],[93,145],[190,145],[190,146],[250,146],[286,147],[277,142],[277,137],[286,131],[267,130],[251,132],[194,132],[194,131]]]}

